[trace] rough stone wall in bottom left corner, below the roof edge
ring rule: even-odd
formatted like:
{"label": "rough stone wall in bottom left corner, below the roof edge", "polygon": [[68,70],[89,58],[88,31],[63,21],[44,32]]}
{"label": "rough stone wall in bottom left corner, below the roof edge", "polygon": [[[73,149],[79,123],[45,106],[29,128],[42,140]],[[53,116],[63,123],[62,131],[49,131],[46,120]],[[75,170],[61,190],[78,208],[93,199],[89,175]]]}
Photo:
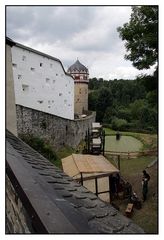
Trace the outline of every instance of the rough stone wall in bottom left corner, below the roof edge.
{"label": "rough stone wall in bottom left corner, below the roof edge", "polygon": [[6,176],[6,233],[31,233],[30,217],[18,193]]}

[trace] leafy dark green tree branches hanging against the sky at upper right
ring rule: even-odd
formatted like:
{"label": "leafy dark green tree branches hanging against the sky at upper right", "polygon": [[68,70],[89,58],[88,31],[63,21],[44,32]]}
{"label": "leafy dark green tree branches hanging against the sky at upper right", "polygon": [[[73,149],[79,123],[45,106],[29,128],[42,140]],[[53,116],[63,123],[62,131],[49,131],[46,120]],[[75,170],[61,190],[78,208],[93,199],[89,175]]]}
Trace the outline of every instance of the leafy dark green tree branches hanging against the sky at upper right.
{"label": "leafy dark green tree branches hanging against the sky at upper right", "polygon": [[149,69],[158,59],[158,6],[134,6],[129,23],[117,28],[137,69]]}

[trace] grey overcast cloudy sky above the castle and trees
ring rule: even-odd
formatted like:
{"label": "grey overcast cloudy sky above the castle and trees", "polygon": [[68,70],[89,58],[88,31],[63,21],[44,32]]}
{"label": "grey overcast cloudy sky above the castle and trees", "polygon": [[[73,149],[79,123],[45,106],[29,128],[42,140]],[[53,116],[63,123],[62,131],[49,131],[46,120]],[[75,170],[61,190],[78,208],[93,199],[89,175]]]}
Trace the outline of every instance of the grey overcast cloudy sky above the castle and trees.
{"label": "grey overcast cloudy sky above the castle and trees", "polygon": [[146,73],[124,60],[117,27],[129,21],[131,7],[7,7],[7,36],[59,58],[65,70],[78,58],[90,77],[134,79]]}

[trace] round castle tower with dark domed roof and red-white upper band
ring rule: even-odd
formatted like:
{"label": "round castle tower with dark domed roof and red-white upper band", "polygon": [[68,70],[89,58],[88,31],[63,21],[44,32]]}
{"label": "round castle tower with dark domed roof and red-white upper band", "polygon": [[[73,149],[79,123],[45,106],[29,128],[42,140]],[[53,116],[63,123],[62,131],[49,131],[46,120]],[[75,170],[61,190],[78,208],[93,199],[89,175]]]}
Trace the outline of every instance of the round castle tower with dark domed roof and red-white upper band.
{"label": "round castle tower with dark domed roof and red-white upper band", "polygon": [[67,72],[74,78],[74,109],[75,114],[83,114],[88,110],[88,69],[77,60]]}

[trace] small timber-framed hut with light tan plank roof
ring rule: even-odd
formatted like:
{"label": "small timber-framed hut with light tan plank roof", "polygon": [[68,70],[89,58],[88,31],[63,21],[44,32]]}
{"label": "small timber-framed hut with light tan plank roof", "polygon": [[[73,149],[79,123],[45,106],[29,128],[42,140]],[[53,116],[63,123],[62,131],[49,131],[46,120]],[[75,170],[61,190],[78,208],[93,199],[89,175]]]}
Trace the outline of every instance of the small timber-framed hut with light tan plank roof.
{"label": "small timber-framed hut with light tan plank roof", "polygon": [[81,182],[90,191],[103,200],[109,199],[109,176],[119,173],[102,155],[72,154],[62,160],[63,171],[75,180]]}

